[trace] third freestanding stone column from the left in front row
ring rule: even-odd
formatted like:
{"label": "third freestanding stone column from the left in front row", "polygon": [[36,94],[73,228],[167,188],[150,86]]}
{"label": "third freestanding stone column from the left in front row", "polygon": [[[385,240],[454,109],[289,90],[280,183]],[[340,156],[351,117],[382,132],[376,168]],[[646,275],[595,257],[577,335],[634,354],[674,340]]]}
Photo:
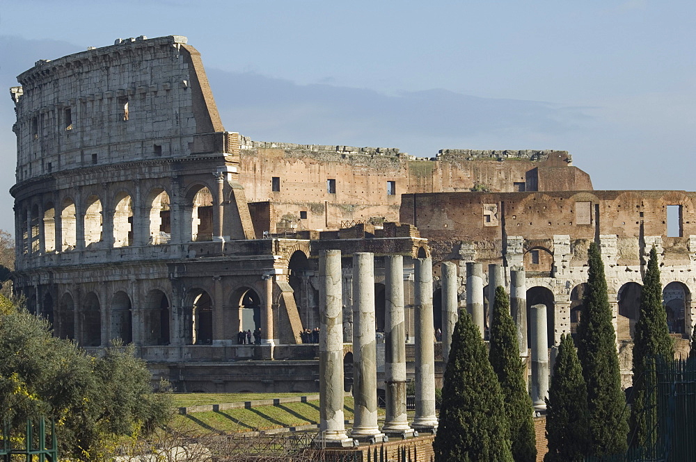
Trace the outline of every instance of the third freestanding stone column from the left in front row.
{"label": "third freestanding stone column from the left in front row", "polygon": [[384,257],[384,381],[386,409],[382,431],[388,436],[413,436],[406,415],[406,320],[404,318],[404,257]]}

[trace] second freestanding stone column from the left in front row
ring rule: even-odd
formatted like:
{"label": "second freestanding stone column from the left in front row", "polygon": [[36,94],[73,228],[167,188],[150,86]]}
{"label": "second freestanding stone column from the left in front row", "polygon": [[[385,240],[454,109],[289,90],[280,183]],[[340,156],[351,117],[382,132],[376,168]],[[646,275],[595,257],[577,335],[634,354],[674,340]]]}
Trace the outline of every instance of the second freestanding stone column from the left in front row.
{"label": "second freestanding stone column from the left in front row", "polygon": [[377,426],[377,340],[374,336],[374,255],[353,255],[353,395],[351,438],[384,440]]}

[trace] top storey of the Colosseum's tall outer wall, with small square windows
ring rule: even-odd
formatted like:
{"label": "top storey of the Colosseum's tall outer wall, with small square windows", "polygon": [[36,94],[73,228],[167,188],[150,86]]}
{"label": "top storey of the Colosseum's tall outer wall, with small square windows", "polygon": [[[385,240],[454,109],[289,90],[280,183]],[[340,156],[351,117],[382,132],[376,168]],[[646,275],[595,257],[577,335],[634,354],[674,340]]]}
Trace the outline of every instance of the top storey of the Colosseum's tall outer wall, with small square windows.
{"label": "top storey of the Colosseum's tall outer wall, with small square windows", "polygon": [[[200,54],[171,35],[39,60],[10,90],[17,183],[91,165],[220,151]],[[219,137],[218,137],[219,138]],[[216,146],[217,144],[217,146]]]}

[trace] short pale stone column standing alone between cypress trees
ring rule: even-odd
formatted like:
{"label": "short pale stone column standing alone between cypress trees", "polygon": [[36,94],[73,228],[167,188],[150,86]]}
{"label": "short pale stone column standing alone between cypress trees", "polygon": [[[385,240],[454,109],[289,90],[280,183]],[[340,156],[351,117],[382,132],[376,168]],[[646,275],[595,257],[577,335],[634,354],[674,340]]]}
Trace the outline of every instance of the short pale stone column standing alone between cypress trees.
{"label": "short pale stone column standing alone between cypress trees", "polygon": [[546,410],[544,398],[548,397],[548,331],[546,330],[546,305],[532,305],[532,404],[535,409]]}

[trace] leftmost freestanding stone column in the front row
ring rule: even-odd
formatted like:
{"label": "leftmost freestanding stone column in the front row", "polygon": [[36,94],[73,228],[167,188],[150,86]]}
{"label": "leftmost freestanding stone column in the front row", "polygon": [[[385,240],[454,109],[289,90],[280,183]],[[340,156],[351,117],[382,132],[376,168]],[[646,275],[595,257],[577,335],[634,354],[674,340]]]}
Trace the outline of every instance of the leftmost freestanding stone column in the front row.
{"label": "leftmost freestanding stone column in the front row", "polygon": [[319,253],[319,438],[325,446],[351,446],[343,414],[341,251]]}

